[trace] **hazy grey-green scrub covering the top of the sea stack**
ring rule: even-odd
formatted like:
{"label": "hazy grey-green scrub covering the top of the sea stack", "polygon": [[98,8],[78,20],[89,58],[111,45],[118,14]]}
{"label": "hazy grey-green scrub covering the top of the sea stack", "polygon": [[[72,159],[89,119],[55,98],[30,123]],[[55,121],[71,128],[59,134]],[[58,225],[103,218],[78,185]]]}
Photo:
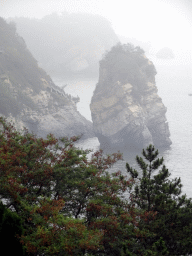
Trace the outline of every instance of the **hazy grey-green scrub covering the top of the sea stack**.
{"label": "hazy grey-green scrub covering the top of the sea stack", "polygon": [[107,70],[110,82],[130,83],[134,88],[142,89],[147,81],[154,82],[156,69],[144,55],[144,50],[132,44],[113,46],[100,61],[100,68]]}

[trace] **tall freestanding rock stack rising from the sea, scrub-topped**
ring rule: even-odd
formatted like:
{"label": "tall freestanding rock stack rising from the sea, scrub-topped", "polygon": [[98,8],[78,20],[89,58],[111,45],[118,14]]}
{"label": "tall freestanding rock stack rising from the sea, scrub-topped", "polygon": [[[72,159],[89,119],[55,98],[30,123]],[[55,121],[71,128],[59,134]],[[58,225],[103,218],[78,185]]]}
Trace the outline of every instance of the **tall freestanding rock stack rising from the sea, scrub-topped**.
{"label": "tall freestanding rock stack rising from the sea, scrub-topped", "polygon": [[144,52],[130,44],[113,47],[100,62],[90,108],[101,147],[137,149],[171,144],[155,74]]}

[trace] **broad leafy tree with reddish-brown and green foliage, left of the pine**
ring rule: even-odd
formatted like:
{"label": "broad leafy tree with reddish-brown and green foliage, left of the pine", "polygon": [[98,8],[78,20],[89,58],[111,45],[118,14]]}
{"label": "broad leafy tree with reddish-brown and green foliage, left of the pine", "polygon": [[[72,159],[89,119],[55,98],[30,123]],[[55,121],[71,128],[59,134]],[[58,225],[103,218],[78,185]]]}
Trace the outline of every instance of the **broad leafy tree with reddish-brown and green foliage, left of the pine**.
{"label": "broad leafy tree with reddish-brown and green foliage, left of the pine", "polygon": [[106,171],[121,155],[104,157],[98,151],[88,161],[89,151],[74,147],[76,137],[43,140],[20,134],[2,118],[0,123],[0,196],[23,221],[20,239],[26,251],[119,253],[137,222],[134,208],[130,211],[123,199],[131,181]]}

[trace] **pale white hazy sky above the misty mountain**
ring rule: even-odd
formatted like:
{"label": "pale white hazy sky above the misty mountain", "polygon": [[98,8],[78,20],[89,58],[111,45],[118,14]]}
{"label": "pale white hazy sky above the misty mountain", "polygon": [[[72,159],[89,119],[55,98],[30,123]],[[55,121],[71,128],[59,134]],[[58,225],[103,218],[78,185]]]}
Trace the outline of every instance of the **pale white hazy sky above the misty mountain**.
{"label": "pale white hazy sky above the misty mountain", "polygon": [[150,41],[154,49],[167,46],[187,55],[192,45],[190,1],[0,0],[0,16],[41,18],[54,11],[101,14],[110,20],[117,34]]}

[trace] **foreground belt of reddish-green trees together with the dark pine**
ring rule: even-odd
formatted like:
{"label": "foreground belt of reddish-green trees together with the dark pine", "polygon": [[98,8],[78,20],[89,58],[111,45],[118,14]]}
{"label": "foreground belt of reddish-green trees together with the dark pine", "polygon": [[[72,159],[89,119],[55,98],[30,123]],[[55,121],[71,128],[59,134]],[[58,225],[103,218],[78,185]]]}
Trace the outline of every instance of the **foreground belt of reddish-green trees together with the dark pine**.
{"label": "foreground belt of reddish-green trees together with the dark pine", "polygon": [[192,253],[191,199],[180,195],[180,179],[169,179],[152,145],[143,150],[146,162],[136,158],[142,173],[127,164],[128,178],[107,171],[120,153],[98,151],[88,160],[76,137],[44,140],[0,123],[0,199],[21,220],[27,254]]}

